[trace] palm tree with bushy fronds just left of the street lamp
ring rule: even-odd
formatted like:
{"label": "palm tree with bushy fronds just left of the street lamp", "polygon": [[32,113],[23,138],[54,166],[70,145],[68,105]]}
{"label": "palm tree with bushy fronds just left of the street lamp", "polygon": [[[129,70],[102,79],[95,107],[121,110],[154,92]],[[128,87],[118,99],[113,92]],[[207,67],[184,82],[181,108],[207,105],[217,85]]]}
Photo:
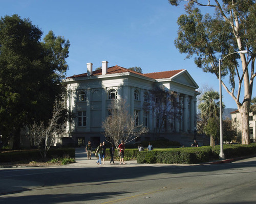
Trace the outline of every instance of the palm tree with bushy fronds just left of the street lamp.
{"label": "palm tree with bushy fronds just left of the street lamp", "polygon": [[[220,115],[220,94],[214,90],[206,91],[202,97],[199,99],[202,101],[198,108],[201,111],[201,117],[204,118],[206,121],[212,123],[213,120],[218,120],[218,117]],[[222,104],[222,107],[225,106]],[[216,123],[216,122],[215,122]],[[210,146],[214,147],[216,135],[213,135],[212,132],[210,132]]]}

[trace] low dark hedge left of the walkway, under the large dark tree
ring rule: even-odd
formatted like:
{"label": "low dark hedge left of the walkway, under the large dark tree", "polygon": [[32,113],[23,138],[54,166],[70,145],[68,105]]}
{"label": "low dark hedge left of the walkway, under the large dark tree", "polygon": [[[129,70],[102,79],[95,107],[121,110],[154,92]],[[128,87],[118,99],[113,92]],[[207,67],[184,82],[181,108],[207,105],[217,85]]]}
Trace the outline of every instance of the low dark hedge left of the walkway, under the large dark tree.
{"label": "low dark hedge left of the walkway, under the large dark tree", "polygon": [[[75,148],[52,148],[47,152],[47,158],[52,159],[56,157],[75,158]],[[17,150],[17,151],[6,151],[0,153],[1,162],[16,162],[25,160],[41,160],[39,150]]]}

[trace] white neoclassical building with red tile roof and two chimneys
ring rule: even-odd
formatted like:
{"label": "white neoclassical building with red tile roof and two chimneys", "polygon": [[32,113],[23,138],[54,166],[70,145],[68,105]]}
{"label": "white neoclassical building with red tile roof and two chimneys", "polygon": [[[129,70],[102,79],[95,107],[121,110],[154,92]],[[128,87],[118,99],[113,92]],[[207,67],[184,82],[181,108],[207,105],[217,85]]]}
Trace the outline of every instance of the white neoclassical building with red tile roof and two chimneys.
{"label": "white neoclassical building with red tile roof and two chimneys", "polygon": [[[150,130],[140,138],[154,140],[156,123],[151,111],[143,110],[144,100],[155,85],[177,93],[181,105],[181,117],[175,118],[169,127],[161,131],[161,136],[172,141],[180,141],[196,127],[197,83],[185,69],[154,73],[138,73],[118,65],[108,67],[102,62],[102,69],[93,71],[93,64],[87,63],[87,72],[73,75],[65,80],[67,85],[67,109],[73,114],[67,125],[67,138],[76,145],[92,141],[98,145],[104,140],[102,122],[108,116],[108,107],[113,99],[125,99],[127,109],[136,111],[139,123]],[[67,139],[66,138],[66,139]]]}

